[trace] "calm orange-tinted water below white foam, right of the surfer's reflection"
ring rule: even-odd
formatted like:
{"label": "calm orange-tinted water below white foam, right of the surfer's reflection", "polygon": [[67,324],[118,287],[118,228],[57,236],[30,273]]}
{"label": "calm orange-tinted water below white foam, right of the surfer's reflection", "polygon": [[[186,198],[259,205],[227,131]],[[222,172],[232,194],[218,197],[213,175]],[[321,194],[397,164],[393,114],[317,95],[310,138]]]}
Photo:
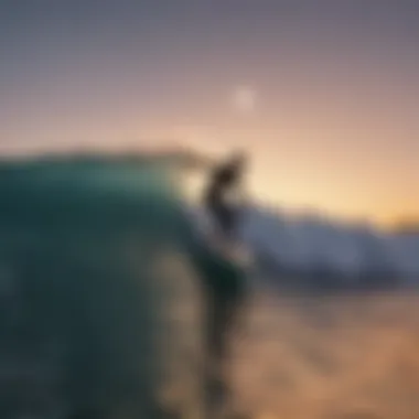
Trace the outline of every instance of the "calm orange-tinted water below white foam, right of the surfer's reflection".
{"label": "calm orange-tinted water below white foam, right of the surfer's reflection", "polygon": [[419,296],[261,291],[236,339],[236,402],[254,418],[416,418]]}

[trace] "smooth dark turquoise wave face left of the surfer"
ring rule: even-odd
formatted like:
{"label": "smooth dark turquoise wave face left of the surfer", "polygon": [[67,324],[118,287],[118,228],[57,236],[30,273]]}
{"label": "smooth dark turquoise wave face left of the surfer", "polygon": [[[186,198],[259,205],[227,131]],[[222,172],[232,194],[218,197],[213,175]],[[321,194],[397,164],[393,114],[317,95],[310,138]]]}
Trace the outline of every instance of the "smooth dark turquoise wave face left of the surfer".
{"label": "smooth dark turquoise wave face left of the surfer", "polygon": [[[2,418],[33,413],[40,391],[45,418],[54,409],[151,417],[169,359],[176,376],[198,379],[171,356],[189,345],[198,365],[197,312],[176,325],[190,343],[169,337],[175,305],[198,299],[185,250],[192,226],[171,170],[100,157],[0,162],[0,365],[40,372],[1,386]],[[162,270],[173,255],[183,256]],[[189,408],[197,385],[185,386]]]}

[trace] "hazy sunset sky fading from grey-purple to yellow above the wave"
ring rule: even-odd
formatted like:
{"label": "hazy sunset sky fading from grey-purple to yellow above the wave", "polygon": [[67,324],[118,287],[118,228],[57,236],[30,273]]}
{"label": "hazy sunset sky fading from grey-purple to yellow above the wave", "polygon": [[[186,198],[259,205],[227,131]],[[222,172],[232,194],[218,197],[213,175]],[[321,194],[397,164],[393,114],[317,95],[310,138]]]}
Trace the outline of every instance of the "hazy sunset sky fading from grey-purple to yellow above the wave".
{"label": "hazy sunset sky fading from grey-purple to yellow above the wave", "polygon": [[255,198],[419,218],[419,6],[2,0],[0,152],[189,141]]}

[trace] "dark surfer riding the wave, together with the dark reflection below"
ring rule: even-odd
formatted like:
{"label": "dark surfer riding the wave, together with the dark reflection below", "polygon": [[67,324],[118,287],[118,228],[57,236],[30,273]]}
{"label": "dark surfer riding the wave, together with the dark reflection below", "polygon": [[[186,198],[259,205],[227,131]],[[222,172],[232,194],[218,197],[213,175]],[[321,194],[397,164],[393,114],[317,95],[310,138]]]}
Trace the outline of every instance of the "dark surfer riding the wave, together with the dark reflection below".
{"label": "dark surfer riding the wave, together with the dark reflection below", "polygon": [[228,397],[225,374],[230,361],[230,335],[241,323],[239,319],[247,296],[246,273],[240,258],[235,256],[235,250],[240,247],[238,233],[243,211],[237,195],[245,170],[246,155],[243,152],[236,152],[226,161],[212,165],[210,181],[203,193],[203,205],[215,229],[216,249],[221,250],[207,260],[208,275],[205,281],[205,330],[210,356],[207,397],[214,407]]}

